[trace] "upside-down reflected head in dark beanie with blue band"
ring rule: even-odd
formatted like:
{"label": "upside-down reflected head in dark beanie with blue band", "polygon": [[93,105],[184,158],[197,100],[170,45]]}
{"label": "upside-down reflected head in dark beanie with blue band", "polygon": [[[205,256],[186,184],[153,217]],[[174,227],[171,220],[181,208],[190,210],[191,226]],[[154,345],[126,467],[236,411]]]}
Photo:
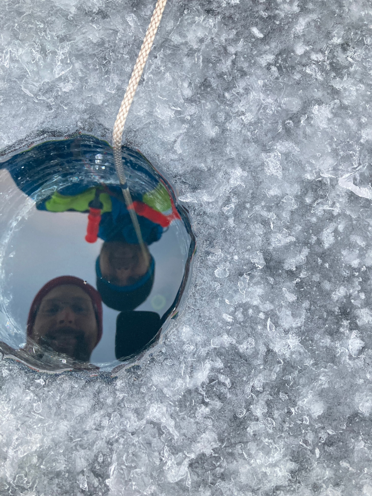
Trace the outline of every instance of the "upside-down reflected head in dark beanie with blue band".
{"label": "upside-down reflected head in dark beanie with blue band", "polygon": [[110,241],[96,261],[97,289],[103,303],[114,310],[133,310],[150,294],[155,262],[146,247]]}

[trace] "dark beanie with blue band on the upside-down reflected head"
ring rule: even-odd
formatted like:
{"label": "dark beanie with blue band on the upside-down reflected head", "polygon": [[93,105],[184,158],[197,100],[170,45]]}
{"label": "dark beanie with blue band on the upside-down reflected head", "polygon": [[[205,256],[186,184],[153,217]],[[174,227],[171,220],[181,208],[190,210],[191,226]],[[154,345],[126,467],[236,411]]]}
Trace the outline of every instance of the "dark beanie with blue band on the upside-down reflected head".
{"label": "dark beanie with blue band on the upside-down reflected head", "polygon": [[154,284],[155,262],[153,257],[144,276],[131,286],[117,286],[102,277],[100,257],[96,260],[97,290],[105,305],[113,310],[134,310],[143,303],[151,292]]}

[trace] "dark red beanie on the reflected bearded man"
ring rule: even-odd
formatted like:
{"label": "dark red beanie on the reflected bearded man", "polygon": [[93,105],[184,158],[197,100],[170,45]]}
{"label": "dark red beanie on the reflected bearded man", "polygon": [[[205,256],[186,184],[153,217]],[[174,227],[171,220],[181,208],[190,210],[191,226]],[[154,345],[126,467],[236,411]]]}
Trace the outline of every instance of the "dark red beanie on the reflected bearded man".
{"label": "dark red beanie on the reflected bearded man", "polygon": [[31,304],[31,308],[28,314],[28,319],[27,319],[27,336],[31,336],[32,334],[32,329],[35,324],[35,319],[37,312],[39,311],[41,302],[45,296],[54,288],[57,286],[62,286],[63,284],[74,284],[75,286],[78,286],[81,288],[85,293],[89,296],[89,298],[92,300],[93,304],[93,309],[94,313],[96,315],[96,320],[97,320],[97,326],[98,326],[98,338],[97,338],[97,344],[99,343],[101,337],[102,337],[102,300],[101,296],[98,293],[96,289],[93,288],[90,284],[84,282],[82,279],[79,279],[78,277],[74,276],[61,276],[61,277],[56,277],[55,279],[52,279],[51,281],[47,282],[39,293],[35,296],[34,301]]}

